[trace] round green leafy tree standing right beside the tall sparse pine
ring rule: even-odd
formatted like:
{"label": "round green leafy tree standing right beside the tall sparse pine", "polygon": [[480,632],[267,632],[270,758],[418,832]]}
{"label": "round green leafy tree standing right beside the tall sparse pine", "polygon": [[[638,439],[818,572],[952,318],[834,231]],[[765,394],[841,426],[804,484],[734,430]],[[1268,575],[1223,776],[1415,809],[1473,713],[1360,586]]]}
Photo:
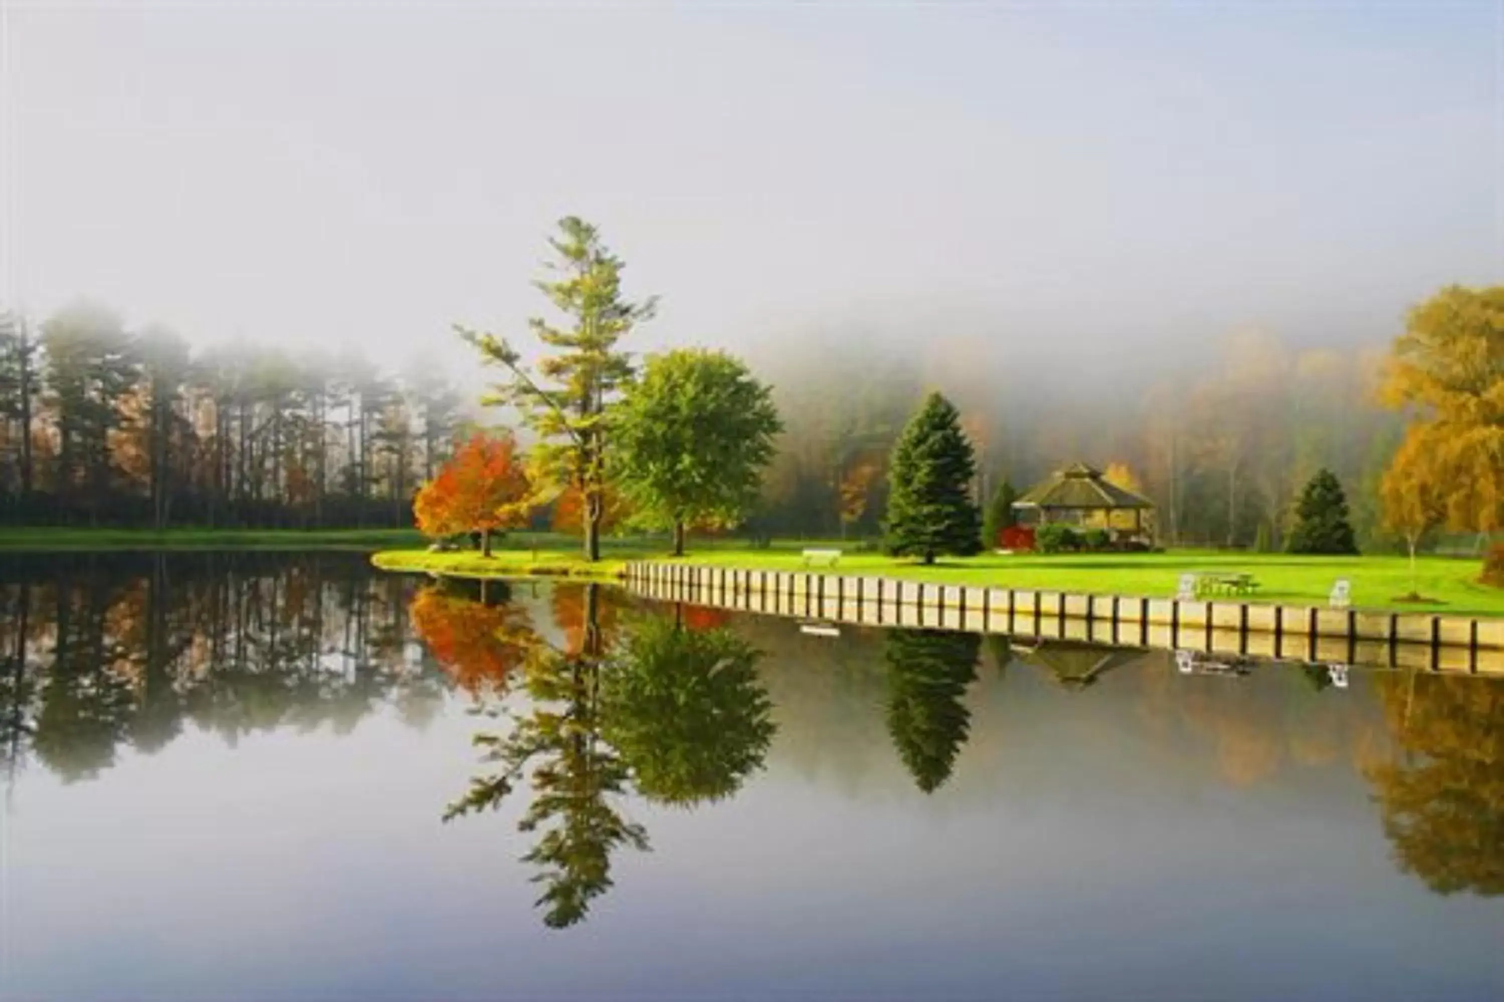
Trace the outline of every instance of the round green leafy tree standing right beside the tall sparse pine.
{"label": "round green leafy tree standing right beside the tall sparse pine", "polygon": [[614,414],[614,480],[650,528],[735,525],[757,504],[763,468],[782,430],[767,387],[747,367],[705,349],[647,360]]}

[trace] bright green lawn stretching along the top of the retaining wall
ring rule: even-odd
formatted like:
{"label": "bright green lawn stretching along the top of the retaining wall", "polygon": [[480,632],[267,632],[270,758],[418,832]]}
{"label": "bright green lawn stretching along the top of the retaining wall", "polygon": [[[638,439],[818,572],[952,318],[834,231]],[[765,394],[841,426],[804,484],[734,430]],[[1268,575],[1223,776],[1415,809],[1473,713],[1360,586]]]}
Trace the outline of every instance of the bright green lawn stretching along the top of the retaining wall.
{"label": "bright green lawn stretching along the top of the retaining wall", "polygon": [[[522,549],[498,551],[492,560],[477,554],[379,554],[378,566],[388,569],[441,570],[469,575],[517,573],[591,573],[576,551],[555,549],[553,539],[540,542],[535,554]],[[744,567],[754,570],[800,570],[800,549],[820,543],[785,542],[769,549],[747,549],[731,540],[723,545],[695,546],[687,563]],[[824,543],[839,546],[839,543]],[[612,575],[626,560],[669,560],[663,546],[614,543],[606,560],[596,567]],[[1238,554],[1215,551],[1175,551],[1169,554],[1069,554],[1000,555],[946,560],[932,567],[871,552],[847,552],[838,566],[847,575],[884,575],[910,581],[975,584],[1060,591],[1096,591],[1133,596],[1172,597],[1178,578],[1188,570],[1248,572],[1259,581],[1257,600],[1293,605],[1324,605],[1337,578],[1352,582],[1354,605],[1370,609],[1436,611],[1451,614],[1504,615],[1504,588],[1477,582],[1480,563],[1472,558],[1423,557],[1418,564],[1420,593],[1432,602],[1403,603],[1409,593],[1409,561],[1403,557],[1290,557],[1286,554]]]}

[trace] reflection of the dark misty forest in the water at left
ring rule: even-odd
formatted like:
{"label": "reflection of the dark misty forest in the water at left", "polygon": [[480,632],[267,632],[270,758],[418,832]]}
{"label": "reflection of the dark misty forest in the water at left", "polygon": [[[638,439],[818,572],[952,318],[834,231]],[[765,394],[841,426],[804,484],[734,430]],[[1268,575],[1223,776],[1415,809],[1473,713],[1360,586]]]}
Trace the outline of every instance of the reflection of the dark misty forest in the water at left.
{"label": "reflection of the dark misty forest in the water at left", "polygon": [[408,647],[408,585],[359,554],[8,557],[0,564],[0,749],[74,782],[122,746],[153,754],[185,722],[347,731],[442,694]]}

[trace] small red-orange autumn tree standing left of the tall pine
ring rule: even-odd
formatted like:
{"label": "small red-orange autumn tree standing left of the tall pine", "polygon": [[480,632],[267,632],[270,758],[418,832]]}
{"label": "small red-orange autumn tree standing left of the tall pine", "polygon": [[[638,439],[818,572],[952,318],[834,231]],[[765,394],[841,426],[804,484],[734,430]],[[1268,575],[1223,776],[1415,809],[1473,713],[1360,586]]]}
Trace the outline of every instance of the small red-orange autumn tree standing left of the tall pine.
{"label": "small red-orange autumn tree standing left of the tall pine", "polygon": [[412,503],[424,536],[480,533],[490,557],[490,536],[525,525],[532,507],[531,483],[510,433],[477,432],[423,484]]}

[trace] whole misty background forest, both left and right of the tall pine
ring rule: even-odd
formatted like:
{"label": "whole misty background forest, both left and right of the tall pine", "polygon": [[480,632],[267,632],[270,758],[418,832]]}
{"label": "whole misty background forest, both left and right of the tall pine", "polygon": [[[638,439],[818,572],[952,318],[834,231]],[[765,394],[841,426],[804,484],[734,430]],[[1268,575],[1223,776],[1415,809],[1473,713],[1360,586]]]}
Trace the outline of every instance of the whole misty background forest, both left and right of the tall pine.
{"label": "whole misty background forest, both left and right of the tall pine", "polygon": [[[1405,424],[1376,399],[1378,339],[1292,346],[1247,329],[1116,378],[1009,366],[1002,345],[978,339],[929,339],[922,351],[851,342],[803,339],[754,358],[784,433],[744,531],[875,536],[893,441],[942,388],[976,447],[979,499],[1003,478],[1026,489],[1089,462],[1158,503],[1167,543],[1278,549],[1295,493],[1325,466],[1352,501],[1360,545],[1394,545],[1379,481]],[[0,521],[406,527],[415,490],[478,415],[429,373],[396,378],[353,355],[191,351],[87,304],[35,325],[5,316]]]}

